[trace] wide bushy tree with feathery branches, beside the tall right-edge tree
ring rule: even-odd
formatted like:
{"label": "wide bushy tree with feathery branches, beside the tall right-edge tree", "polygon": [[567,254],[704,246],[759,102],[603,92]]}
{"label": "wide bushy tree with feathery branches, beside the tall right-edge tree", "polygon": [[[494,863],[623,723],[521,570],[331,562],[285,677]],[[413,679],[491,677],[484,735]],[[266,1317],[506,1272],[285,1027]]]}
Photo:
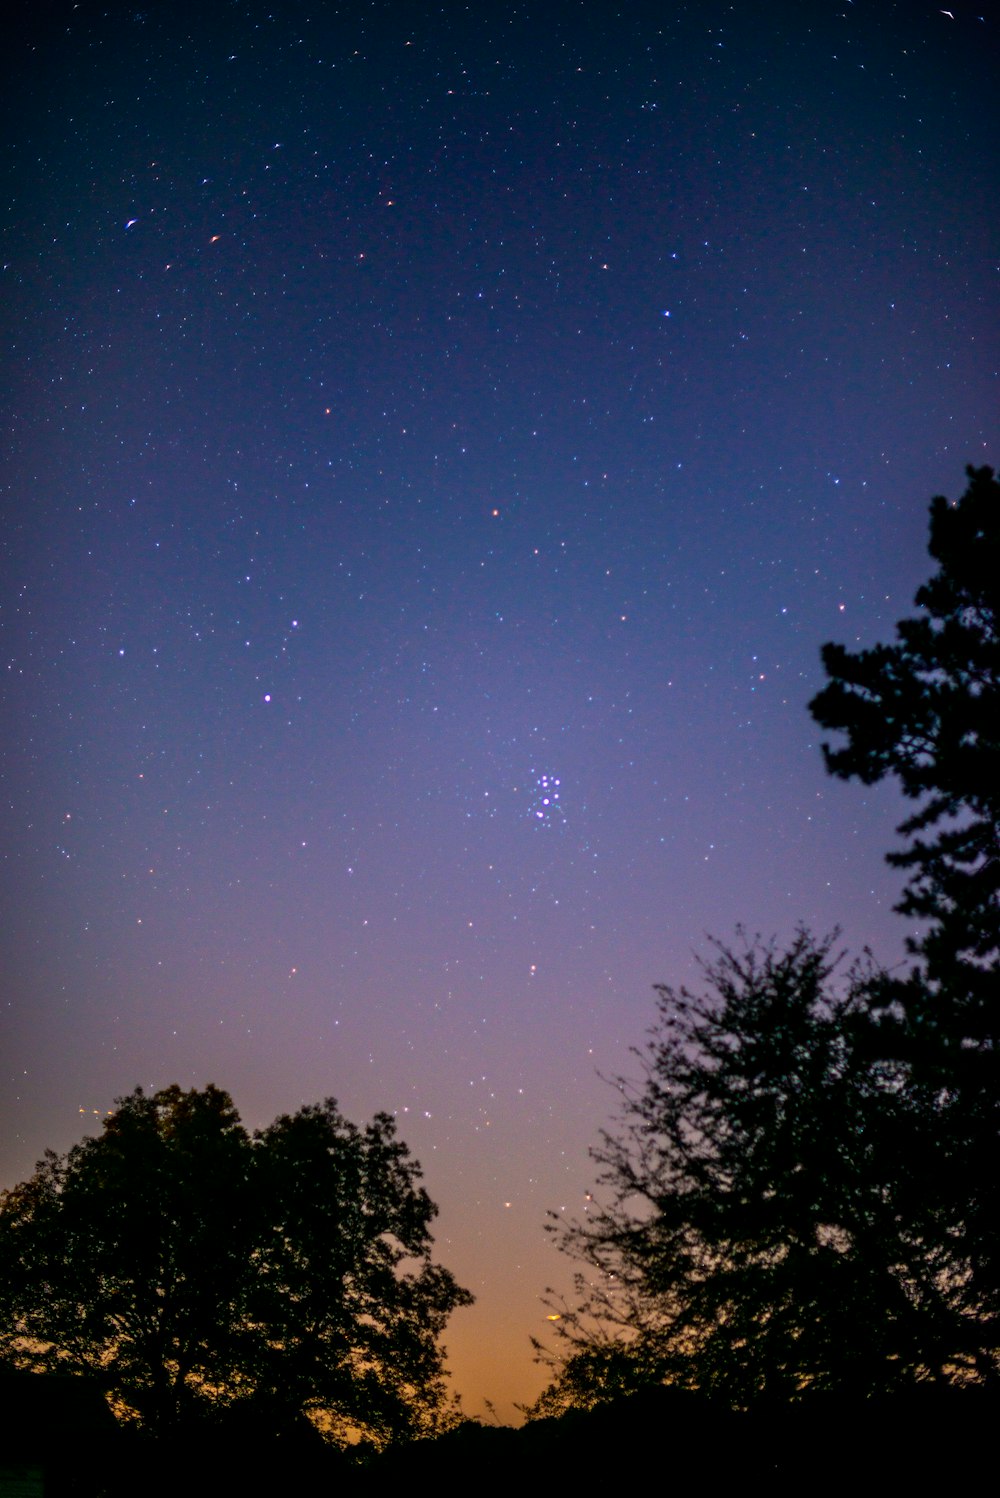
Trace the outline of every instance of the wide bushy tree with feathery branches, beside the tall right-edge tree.
{"label": "wide bushy tree with feathery branches, beside the tall right-edge tree", "polygon": [[990,1360],[961,1257],[900,1188],[898,1143],[933,1103],[873,1059],[879,974],[834,968],[801,930],[787,951],[720,947],[704,995],[657,989],[644,1077],[618,1082],[594,1150],[600,1200],[554,1219],[585,1267],[536,1414],[648,1381],[735,1407],[879,1393]]}

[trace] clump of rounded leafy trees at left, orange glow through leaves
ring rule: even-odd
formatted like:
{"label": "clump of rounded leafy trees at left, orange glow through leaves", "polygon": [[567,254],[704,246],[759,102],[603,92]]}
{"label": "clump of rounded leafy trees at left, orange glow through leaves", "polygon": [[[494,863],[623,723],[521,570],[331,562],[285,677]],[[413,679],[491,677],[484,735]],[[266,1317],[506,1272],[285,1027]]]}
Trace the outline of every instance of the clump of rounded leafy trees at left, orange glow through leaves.
{"label": "clump of rounded leafy trees at left, orange glow through leaves", "polygon": [[419,1167],[332,1100],[249,1134],[217,1088],[120,1098],[0,1197],[0,1359],[97,1378],[154,1432],[250,1414],[383,1443],[448,1407]]}

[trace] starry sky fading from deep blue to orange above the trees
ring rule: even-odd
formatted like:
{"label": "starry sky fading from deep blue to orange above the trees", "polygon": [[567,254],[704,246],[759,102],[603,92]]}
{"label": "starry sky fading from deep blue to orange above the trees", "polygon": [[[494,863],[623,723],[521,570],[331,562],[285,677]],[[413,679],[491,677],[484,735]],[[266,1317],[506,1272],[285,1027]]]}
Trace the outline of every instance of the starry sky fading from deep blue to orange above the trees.
{"label": "starry sky fading from deep blue to orange above the trees", "polygon": [[386,1109],[506,1419],[651,986],[900,960],[807,703],[996,463],[984,4],[19,7],[0,1182]]}

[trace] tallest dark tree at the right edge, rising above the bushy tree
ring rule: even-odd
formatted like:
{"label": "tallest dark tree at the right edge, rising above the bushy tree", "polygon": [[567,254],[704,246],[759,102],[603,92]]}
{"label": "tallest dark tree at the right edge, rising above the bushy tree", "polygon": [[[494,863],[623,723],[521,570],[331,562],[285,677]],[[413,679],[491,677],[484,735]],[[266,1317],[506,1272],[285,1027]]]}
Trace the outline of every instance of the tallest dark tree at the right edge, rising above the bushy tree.
{"label": "tallest dark tree at the right edge, rising above the bushy tree", "polygon": [[[888,854],[909,879],[898,909],[922,923],[918,965],[873,996],[877,1046],[937,1097],[910,1140],[919,1191],[961,1245],[981,1306],[1000,1330],[1000,484],[967,469],[957,503],[931,502],[937,572],[897,643],[823,649],[831,680],[810,704],[832,774],[886,776],[919,803]],[[994,1332],[994,1339],[997,1332]]]}

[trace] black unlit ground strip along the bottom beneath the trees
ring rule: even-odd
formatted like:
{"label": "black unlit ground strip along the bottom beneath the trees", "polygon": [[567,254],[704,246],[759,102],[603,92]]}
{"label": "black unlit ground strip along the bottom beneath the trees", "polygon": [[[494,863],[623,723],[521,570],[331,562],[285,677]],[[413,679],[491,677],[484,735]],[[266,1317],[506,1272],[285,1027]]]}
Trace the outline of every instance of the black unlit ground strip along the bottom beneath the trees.
{"label": "black unlit ground strip along the bottom beneath the trees", "polygon": [[996,1450],[1000,1413],[996,1392],[982,1389],[927,1386],[870,1401],[816,1396],[750,1414],[654,1389],[521,1429],[470,1420],[358,1465],[311,1428],[280,1441],[243,1429],[153,1443],[108,1425],[96,1408],[88,1417],[85,1401],[55,1398],[48,1413],[40,1405],[31,1413],[4,1381],[3,1404],[0,1494],[4,1468],[34,1461],[45,1468],[45,1498],[368,1495],[410,1485],[449,1494],[485,1474],[494,1486],[579,1483],[593,1491],[644,1480],[639,1474],[650,1470],[665,1485],[716,1489],[762,1483],[768,1492],[790,1494],[804,1485],[834,1491],[862,1482],[928,1491],[976,1483]]}

